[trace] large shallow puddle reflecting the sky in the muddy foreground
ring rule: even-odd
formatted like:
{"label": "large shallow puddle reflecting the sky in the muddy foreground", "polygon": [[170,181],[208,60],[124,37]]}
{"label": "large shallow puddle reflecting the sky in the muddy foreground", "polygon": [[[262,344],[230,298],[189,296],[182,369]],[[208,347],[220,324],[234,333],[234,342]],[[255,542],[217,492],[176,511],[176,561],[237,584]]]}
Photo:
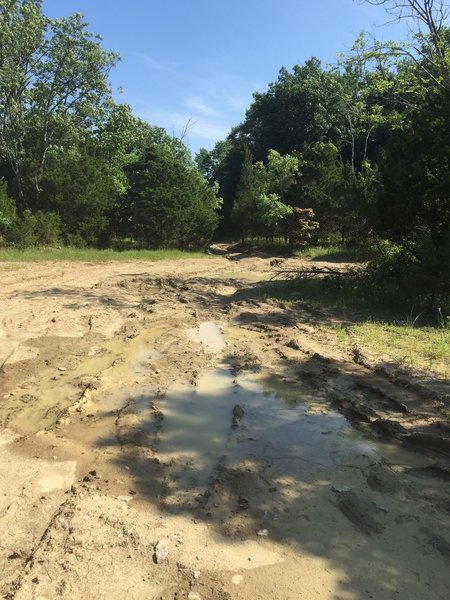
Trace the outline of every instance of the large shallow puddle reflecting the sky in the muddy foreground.
{"label": "large shallow puddle reflecting the sky in the muddy foreground", "polygon": [[249,454],[285,465],[336,465],[336,453],[353,444],[337,435],[349,427],[346,419],[337,413],[309,415],[312,390],[281,380],[274,383],[274,378],[261,375],[235,377],[222,364],[200,377],[196,388],[187,383],[172,386],[161,402],[160,458],[176,459],[177,478],[184,484],[191,479],[195,485],[207,483],[225,456],[228,466]]}

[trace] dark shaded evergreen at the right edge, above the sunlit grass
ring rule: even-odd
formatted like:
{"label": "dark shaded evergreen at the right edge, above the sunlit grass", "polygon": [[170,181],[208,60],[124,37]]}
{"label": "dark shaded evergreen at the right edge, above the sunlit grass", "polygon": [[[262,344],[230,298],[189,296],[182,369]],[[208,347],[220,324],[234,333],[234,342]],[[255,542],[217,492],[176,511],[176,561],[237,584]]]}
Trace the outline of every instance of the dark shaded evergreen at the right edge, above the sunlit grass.
{"label": "dark shaded evergreen at the right edge, above the sunlit grass", "polygon": [[402,248],[410,281],[434,301],[450,293],[450,97],[436,89],[427,100],[387,145],[378,210],[380,235]]}

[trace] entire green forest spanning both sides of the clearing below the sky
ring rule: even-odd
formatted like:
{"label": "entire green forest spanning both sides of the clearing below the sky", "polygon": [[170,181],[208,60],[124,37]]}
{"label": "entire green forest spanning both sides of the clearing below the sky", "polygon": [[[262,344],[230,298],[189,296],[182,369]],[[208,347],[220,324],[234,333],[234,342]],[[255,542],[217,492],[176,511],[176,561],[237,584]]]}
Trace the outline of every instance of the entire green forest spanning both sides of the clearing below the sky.
{"label": "entire green forest spanning both sides of the clearing below the sky", "polygon": [[361,35],[332,66],[281,68],[244,121],[193,160],[114,102],[118,56],[82,16],[0,0],[0,243],[339,242],[366,249],[373,271],[424,302],[448,298],[446,3],[365,1],[408,19],[412,39]]}

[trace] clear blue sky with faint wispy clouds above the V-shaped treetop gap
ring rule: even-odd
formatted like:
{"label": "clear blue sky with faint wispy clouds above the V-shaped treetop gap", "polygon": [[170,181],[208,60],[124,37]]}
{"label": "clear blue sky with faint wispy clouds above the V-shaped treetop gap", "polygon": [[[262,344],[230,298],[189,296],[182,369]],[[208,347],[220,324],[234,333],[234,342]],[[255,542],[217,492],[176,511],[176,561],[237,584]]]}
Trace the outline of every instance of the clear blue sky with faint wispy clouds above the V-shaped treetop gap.
{"label": "clear blue sky with faint wispy clouds above the V-shaped treetop gap", "polygon": [[[359,32],[406,37],[381,7],[357,0],[44,0],[50,17],[82,13],[121,55],[116,100],[180,135],[193,153],[240,123],[252,93],[310,56],[333,62]],[[119,89],[122,88],[122,92]]]}

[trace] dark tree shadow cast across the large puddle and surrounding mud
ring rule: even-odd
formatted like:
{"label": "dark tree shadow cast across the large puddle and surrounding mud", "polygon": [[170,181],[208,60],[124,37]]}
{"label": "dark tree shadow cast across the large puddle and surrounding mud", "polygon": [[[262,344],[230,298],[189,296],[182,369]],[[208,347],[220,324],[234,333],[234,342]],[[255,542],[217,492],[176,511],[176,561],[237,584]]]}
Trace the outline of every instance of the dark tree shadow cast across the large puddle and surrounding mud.
{"label": "dark tree shadow cast across the large puddle and surrounding mud", "polygon": [[[195,293],[195,281],[188,288]],[[236,326],[316,318],[295,307],[285,321],[257,313],[271,290],[242,284],[217,296],[210,286],[197,301],[213,315],[242,301]],[[149,390],[119,415],[116,462],[137,493],[226,539],[263,544],[267,530],[280,551],[323,560],[339,577],[335,600],[444,598],[449,484],[444,467],[436,477],[430,466],[448,455],[431,438],[395,427],[402,387],[351,361],[301,353],[285,360],[284,379],[267,372],[255,383],[235,358],[221,358],[216,385],[200,378],[165,396]],[[142,405],[153,409],[143,415]],[[243,416],[233,427],[236,406]],[[425,423],[420,433],[431,428]]]}

